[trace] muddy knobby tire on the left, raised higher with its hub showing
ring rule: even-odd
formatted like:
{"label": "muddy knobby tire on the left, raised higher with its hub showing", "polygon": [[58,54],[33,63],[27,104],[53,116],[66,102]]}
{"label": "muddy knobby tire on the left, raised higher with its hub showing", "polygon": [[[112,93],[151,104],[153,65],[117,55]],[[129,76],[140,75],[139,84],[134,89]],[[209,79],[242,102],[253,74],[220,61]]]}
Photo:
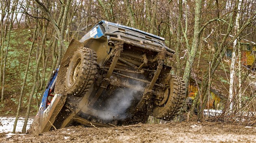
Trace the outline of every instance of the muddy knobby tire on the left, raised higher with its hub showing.
{"label": "muddy knobby tire on the left, raised higher with its hub showing", "polygon": [[77,48],[66,73],[67,94],[82,96],[93,84],[97,68],[97,55],[90,48]]}

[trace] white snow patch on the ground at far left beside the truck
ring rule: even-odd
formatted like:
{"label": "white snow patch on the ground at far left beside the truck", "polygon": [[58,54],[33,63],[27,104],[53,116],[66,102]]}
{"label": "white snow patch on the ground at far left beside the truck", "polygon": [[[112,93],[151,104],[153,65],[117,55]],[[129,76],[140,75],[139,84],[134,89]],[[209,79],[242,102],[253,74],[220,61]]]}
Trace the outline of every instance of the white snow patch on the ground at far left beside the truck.
{"label": "white snow patch on the ground at far left beside the truck", "polygon": [[[16,126],[16,132],[21,132],[22,127],[24,124],[25,118],[20,117],[17,121],[17,126]],[[15,117],[0,117],[0,133],[2,132],[12,132],[13,131],[13,125],[14,125]],[[26,127],[26,130],[29,129],[30,124],[32,124],[33,119],[28,118],[28,124]]]}

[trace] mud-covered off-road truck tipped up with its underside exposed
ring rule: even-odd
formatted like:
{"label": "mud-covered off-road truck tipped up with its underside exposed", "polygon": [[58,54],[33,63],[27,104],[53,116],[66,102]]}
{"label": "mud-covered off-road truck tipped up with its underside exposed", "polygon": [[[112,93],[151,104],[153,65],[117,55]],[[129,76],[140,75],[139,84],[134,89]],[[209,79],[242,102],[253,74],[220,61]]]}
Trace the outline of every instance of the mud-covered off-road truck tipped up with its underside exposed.
{"label": "mud-covered off-road truck tipped up with its underside exposed", "polygon": [[175,51],[164,42],[139,29],[100,21],[69,44],[29,132],[135,124],[149,115],[173,119],[185,88],[180,77],[170,74]]}

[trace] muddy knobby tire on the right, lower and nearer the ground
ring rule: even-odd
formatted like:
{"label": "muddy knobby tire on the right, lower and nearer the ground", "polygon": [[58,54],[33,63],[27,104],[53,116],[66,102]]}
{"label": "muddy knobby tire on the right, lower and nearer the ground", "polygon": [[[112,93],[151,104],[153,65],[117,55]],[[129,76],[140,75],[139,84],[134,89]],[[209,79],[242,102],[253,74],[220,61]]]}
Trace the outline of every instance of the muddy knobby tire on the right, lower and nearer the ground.
{"label": "muddy knobby tire on the right, lower and nearer the ground", "polygon": [[185,84],[182,78],[172,74],[168,74],[165,78],[165,84],[167,99],[162,105],[153,105],[152,116],[161,120],[172,120],[184,103]]}

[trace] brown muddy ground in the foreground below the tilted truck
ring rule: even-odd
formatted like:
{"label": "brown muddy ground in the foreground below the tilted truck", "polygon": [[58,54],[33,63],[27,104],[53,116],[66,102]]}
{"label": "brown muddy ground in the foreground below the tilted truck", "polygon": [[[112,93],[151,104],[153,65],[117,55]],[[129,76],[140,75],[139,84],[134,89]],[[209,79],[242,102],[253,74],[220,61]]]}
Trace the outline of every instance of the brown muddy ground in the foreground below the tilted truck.
{"label": "brown muddy ground in the foreground below the tilted truck", "polygon": [[0,134],[0,142],[256,142],[256,127],[213,122],[135,124],[111,128],[68,127],[41,135]]}

